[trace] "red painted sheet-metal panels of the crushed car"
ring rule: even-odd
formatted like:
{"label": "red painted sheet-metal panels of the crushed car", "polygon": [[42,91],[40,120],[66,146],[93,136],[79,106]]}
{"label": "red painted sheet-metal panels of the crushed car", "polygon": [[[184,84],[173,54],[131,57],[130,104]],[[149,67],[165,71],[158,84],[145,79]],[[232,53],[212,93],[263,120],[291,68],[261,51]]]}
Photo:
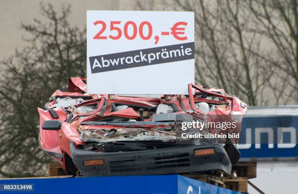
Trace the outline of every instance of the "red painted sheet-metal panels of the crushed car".
{"label": "red painted sheet-metal panels of the crushed car", "polygon": [[[117,129],[119,126],[94,126],[94,125],[80,125],[81,122],[84,121],[93,121],[101,118],[105,118],[108,116],[118,116],[118,117],[126,117],[131,119],[138,119],[140,117],[139,113],[132,108],[127,108],[120,111],[111,112],[112,103],[116,104],[129,104],[131,106],[140,106],[140,107],[154,107],[158,104],[165,103],[173,103],[177,107],[178,110],[175,114],[191,114],[195,117],[206,119],[207,121],[233,121],[233,116],[242,116],[245,115],[247,111],[246,104],[242,103],[236,97],[228,96],[223,89],[205,89],[202,86],[196,86],[194,84],[188,85],[188,93],[189,95],[186,97],[184,95],[172,95],[171,100],[167,101],[164,97],[161,98],[145,98],[145,97],[120,97],[115,96],[114,99],[108,99],[108,95],[87,95],[86,94],[86,78],[70,78],[69,80],[69,91],[62,92],[57,90],[52,97],[93,97],[92,99],[86,99],[84,102],[76,104],[75,107],[78,108],[80,106],[96,104],[97,109],[95,109],[92,113],[84,113],[84,114],[75,114],[72,116],[71,122],[65,122],[68,113],[62,108],[55,108],[56,114],[59,116],[57,120],[62,121],[61,129],[58,131],[48,131],[43,130],[41,128],[42,123],[45,120],[55,120],[49,111],[42,110],[37,108],[39,113],[40,121],[39,121],[39,143],[42,149],[48,152],[56,153],[56,154],[70,154],[70,141],[73,141],[75,146],[85,144],[80,140],[80,133],[78,132],[78,127],[80,130],[91,130],[98,128],[105,129]],[[193,94],[193,91],[195,94]],[[212,95],[214,97],[220,97],[221,101],[216,101],[212,99],[198,98],[198,94],[196,93],[204,93],[206,95]],[[220,92],[221,94],[217,93]],[[207,102],[207,103],[227,103],[226,109],[215,109],[210,111],[209,113],[204,113],[201,110],[197,109],[195,106],[195,102]],[[47,104],[47,108],[50,108],[55,103],[55,99],[50,101]],[[107,108],[101,116],[103,107],[107,103]],[[242,105],[242,106],[241,106]],[[244,105],[244,107],[243,107]],[[82,117],[84,116],[84,117]],[[145,120],[151,120],[151,118],[147,118]],[[240,119],[241,120],[241,119]],[[135,127],[147,127],[154,128],[156,126],[135,126]],[[123,127],[121,127],[123,128]],[[231,131],[232,129],[227,129],[223,133],[232,133],[232,132],[240,132],[241,131],[241,122],[237,123],[236,129]],[[214,129],[210,129],[212,133],[216,132]],[[234,139],[235,143],[238,142],[238,139]],[[64,160],[55,158],[57,161],[63,164],[63,168],[65,169]]]}

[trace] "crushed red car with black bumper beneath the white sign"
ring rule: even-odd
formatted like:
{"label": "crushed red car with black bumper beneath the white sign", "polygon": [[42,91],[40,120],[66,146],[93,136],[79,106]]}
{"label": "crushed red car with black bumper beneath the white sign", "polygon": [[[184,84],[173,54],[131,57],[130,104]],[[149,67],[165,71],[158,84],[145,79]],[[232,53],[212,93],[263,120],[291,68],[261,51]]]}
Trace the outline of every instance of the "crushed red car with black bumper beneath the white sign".
{"label": "crushed red car with black bumper beneath the white sign", "polygon": [[[70,78],[40,117],[39,144],[68,175],[231,173],[238,138],[181,138],[182,133],[239,134],[247,105],[223,89],[188,85],[188,95],[129,97],[87,94],[86,78]],[[182,130],[184,122],[233,121],[232,128]]]}

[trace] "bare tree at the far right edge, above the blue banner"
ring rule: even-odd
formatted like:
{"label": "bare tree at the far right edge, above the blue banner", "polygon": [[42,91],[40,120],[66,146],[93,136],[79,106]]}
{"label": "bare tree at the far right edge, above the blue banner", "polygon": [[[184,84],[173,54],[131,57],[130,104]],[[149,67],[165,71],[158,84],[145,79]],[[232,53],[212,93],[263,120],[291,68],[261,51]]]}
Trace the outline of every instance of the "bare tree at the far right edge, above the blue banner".
{"label": "bare tree at the far right edge, above the blue banner", "polygon": [[274,48],[267,61],[278,69],[276,77],[281,80],[275,91],[286,93],[285,100],[292,97],[298,102],[298,0],[244,2],[244,7],[254,16],[252,30]]}

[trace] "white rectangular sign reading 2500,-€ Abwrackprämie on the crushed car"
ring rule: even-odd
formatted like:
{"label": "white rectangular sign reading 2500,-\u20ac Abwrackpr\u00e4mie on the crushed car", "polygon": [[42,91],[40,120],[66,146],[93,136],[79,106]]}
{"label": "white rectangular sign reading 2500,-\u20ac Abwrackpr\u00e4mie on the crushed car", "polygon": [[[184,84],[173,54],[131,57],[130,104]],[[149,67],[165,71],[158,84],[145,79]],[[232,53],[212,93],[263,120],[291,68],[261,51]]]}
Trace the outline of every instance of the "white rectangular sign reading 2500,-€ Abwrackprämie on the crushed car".
{"label": "white rectangular sign reading 2500,-\u20ac Abwrackpr\u00e4mie on the crushed car", "polygon": [[87,11],[87,93],[188,94],[194,13]]}

